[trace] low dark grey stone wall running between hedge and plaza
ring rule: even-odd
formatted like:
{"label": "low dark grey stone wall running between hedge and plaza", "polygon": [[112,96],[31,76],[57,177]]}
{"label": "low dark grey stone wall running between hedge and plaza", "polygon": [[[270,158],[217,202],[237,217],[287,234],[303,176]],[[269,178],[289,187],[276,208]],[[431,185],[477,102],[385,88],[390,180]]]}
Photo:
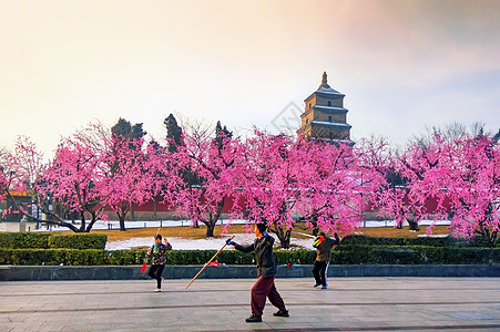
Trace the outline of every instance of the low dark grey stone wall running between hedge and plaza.
{"label": "low dark grey stone wall running between hedge and plaza", "polygon": [[[191,279],[203,266],[167,266],[165,279]],[[313,278],[313,266],[278,266],[277,278]],[[256,278],[255,266],[207,267],[200,279]],[[330,266],[328,277],[500,277],[500,264]],[[0,281],[147,279],[140,266],[0,266]]]}

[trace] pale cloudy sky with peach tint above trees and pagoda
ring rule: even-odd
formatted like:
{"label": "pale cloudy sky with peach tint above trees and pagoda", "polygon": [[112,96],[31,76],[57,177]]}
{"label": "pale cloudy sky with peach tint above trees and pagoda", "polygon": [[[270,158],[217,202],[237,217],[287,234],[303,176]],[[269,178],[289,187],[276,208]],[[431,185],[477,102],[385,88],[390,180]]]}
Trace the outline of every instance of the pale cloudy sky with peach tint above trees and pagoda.
{"label": "pale cloudy sky with peach tint above trees and pagoda", "polygon": [[120,117],[295,133],[324,71],[351,139],[500,128],[500,1],[0,0],[0,147]]}

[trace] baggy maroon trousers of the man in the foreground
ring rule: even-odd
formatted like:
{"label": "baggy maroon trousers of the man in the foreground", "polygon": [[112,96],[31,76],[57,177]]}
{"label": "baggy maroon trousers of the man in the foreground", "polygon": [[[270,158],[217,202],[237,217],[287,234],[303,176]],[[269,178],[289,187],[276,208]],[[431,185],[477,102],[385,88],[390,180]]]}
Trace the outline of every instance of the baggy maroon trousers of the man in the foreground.
{"label": "baggy maroon trousers of the man in the foreground", "polygon": [[274,286],[274,277],[262,278],[258,277],[257,282],[255,282],[252,288],[252,313],[255,315],[262,315],[264,307],[266,305],[266,298],[269,299],[271,303],[279,310],[286,310],[285,302],[283,302],[282,295],[279,295]]}

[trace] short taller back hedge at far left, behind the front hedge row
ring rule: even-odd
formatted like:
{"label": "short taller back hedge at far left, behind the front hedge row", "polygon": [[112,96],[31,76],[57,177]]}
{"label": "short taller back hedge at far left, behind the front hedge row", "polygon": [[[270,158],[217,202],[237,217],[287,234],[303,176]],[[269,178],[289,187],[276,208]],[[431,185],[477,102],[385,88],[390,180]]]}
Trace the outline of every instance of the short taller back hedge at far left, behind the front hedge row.
{"label": "short taller back hedge at far left, behind the front hedge row", "polygon": [[47,234],[47,232],[0,232],[0,248],[7,249],[104,249],[106,235],[99,234]]}

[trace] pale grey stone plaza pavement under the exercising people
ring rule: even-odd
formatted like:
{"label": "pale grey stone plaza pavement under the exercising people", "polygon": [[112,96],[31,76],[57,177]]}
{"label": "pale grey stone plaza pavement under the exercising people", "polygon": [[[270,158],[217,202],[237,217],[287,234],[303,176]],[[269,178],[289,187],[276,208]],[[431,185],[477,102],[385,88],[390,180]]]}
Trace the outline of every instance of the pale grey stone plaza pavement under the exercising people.
{"label": "pale grey stone plaza pavement under the exercising people", "polygon": [[500,278],[279,278],[290,317],[249,324],[254,281],[3,281],[0,331],[500,331]]}

